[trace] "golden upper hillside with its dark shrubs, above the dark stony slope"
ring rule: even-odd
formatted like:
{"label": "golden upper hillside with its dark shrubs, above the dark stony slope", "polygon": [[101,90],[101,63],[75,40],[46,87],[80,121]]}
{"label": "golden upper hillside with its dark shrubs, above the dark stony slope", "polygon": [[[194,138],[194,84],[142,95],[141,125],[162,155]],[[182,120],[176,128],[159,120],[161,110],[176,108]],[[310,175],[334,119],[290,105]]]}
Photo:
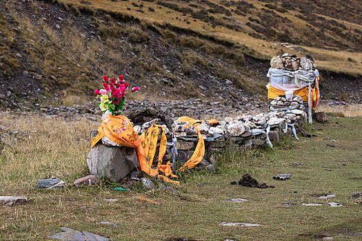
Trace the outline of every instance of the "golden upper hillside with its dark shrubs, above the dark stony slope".
{"label": "golden upper hillside with its dark shrubs, above the dark stony slope", "polygon": [[[323,68],[362,74],[362,7],[358,0],[61,2],[190,29],[245,45],[249,53],[267,59],[280,52],[310,53]],[[285,42],[294,48],[280,45]]]}

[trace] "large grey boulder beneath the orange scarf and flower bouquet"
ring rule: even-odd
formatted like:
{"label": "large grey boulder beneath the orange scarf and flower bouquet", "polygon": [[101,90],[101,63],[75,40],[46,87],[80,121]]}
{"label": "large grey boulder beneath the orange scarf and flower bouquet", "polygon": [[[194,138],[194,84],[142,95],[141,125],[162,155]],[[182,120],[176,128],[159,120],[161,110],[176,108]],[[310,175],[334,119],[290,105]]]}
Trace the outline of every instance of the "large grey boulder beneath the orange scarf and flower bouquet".
{"label": "large grey boulder beneath the orange scarf and flower bouquet", "polygon": [[134,148],[108,147],[101,144],[97,144],[90,149],[87,165],[90,174],[97,178],[106,176],[112,182],[119,182],[134,168],[139,167]]}

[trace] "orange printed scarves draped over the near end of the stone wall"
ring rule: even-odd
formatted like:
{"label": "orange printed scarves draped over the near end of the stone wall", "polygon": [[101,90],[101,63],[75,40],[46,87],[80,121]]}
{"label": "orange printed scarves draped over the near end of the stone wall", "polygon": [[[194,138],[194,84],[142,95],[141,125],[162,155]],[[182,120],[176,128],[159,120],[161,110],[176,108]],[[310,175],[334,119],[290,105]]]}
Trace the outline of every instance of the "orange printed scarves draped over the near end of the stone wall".
{"label": "orange printed scarves draped over the near end of the stone wall", "polygon": [[[179,120],[183,122],[188,120],[190,126],[197,126],[201,123],[199,120],[194,120],[186,116],[179,118]],[[209,123],[217,123],[217,121],[211,120]],[[154,155],[156,154],[157,140],[159,138],[159,129],[162,130],[161,143],[159,147],[159,160],[157,167],[152,168],[152,161]],[[205,143],[199,128],[197,128],[197,134],[199,136],[199,142],[197,143],[194,154],[182,167],[180,167],[180,171],[194,168],[203,159],[205,154]],[[177,185],[179,184],[179,182],[170,179],[177,178],[176,175],[172,174],[171,163],[168,162],[165,165],[162,164],[163,156],[165,155],[167,147],[165,129],[163,126],[152,125],[152,127],[143,132],[141,136],[138,136],[127,117],[108,116],[102,121],[101,126],[99,126],[97,136],[92,138],[91,148],[93,148],[94,145],[96,145],[103,136],[119,145],[136,148],[139,166],[146,174],[163,178],[163,180],[166,182],[172,182]],[[161,171],[163,174],[160,175],[159,171]]]}

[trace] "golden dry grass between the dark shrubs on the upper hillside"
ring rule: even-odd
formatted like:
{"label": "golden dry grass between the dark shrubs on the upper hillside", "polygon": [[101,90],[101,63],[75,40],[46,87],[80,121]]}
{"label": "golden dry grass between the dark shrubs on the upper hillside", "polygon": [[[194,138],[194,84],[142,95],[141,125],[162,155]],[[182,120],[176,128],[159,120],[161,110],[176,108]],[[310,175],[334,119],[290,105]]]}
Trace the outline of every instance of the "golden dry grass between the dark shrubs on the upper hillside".
{"label": "golden dry grass between the dark shrubs on the upper hillside", "polygon": [[[61,0],[61,1],[81,6],[80,1],[78,0]],[[216,28],[213,28],[212,24],[210,23],[208,24],[200,20],[197,20],[195,22],[192,21],[191,24],[188,24],[187,23],[188,21],[183,21],[183,19],[188,19],[190,21],[192,20],[190,16],[183,16],[182,12],[177,12],[170,8],[165,8],[165,7],[162,7],[161,9],[155,8],[156,6],[155,2],[148,2],[148,1],[143,2],[144,12],[137,12],[138,8],[134,8],[134,6],[132,6],[133,1],[126,1],[122,2],[121,4],[117,1],[110,2],[105,0],[97,0],[97,1],[90,0],[88,2],[90,3],[89,8],[102,9],[110,12],[120,12],[121,14],[132,15],[133,17],[137,17],[139,19],[142,19],[143,21],[147,21],[150,23],[154,22],[160,24],[168,23],[170,25],[174,25],[179,28],[186,28],[186,29],[190,28],[195,32],[199,32],[200,34],[204,34],[207,36],[214,36],[217,39],[224,39],[233,43],[245,45],[248,48],[247,50],[245,50],[245,52],[252,56],[269,59],[271,56],[275,56],[276,54],[278,54],[281,48],[278,41],[274,43],[269,39],[266,40],[255,39],[254,37],[250,36],[249,33],[254,32],[254,30],[248,28],[248,26],[244,27],[245,30],[247,30],[246,32],[235,32],[235,30],[231,30],[222,25],[218,25]],[[220,4],[219,1],[211,1],[211,2]],[[265,8],[265,3],[256,0],[248,1],[248,3],[252,3],[257,9]],[[190,8],[190,6],[188,6],[188,3],[177,2],[177,5],[179,6],[179,8]],[[148,11],[147,9],[149,7],[154,8],[155,12]],[[127,10],[127,8],[130,8],[131,10]],[[208,7],[206,7],[206,9],[208,9]],[[231,7],[226,9],[230,10]],[[296,38],[303,39],[304,36],[303,34],[305,34],[305,31],[310,31],[310,29],[306,27],[306,25],[308,25],[307,22],[294,16],[294,14],[298,13],[299,12],[297,12],[296,10],[290,10],[290,14],[283,14],[283,17],[287,17],[292,22],[291,24],[296,27],[296,30],[301,30],[301,31],[290,30],[292,31],[291,34]],[[212,14],[212,16],[219,19],[223,19],[223,17],[225,17],[223,14]],[[248,17],[249,15],[244,17],[238,14],[232,14],[232,19],[234,19],[239,23],[248,22],[249,21]],[[325,17],[325,19],[328,20],[332,19],[331,17],[326,17],[326,16],[323,17]],[[343,23],[346,26],[348,26],[348,28],[362,30],[361,25],[356,25],[355,23],[348,23],[346,21],[340,21],[339,19],[332,19],[332,20],[336,21],[337,23]],[[326,36],[336,37],[335,34],[333,34],[333,32],[330,32],[329,30],[323,30],[323,31],[326,34]],[[171,41],[174,41],[175,36],[173,34],[171,35],[168,34],[168,36]],[[168,36],[164,37],[167,39]],[[339,38],[337,39],[343,42],[343,39]],[[191,42],[190,44],[193,43],[197,45],[201,44],[200,41],[199,43],[196,43],[193,42],[192,40],[193,40],[192,37],[189,37],[189,39],[181,37],[180,39],[181,43]],[[300,45],[293,44],[293,46],[301,47],[304,48],[305,50],[299,52],[297,50],[283,48],[283,52],[289,52],[290,54],[297,54],[298,56],[312,52],[316,56],[315,59],[319,63],[319,67],[323,69],[333,70],[336,72],[347,72],[350,74],[362,74],[362,63],[361,63],[362,57],[360,52],[325,50],[323,48],[310,48],[303,45],[303,43],[301,43]],[[321,59],[323,60],[319,61],[319,56],[321,56]],[[328,59],[325,59],[325,57],[327,56]],[[348,61],[349,57],[351,59],[354,59],[356,63],[351,63],[350,61]]]}

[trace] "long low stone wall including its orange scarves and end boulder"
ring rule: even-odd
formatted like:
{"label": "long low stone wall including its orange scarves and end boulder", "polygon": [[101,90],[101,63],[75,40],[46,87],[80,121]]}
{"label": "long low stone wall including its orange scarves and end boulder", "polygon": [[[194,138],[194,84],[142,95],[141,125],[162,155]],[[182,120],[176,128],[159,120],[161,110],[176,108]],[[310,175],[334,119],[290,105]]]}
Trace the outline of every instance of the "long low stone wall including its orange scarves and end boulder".
{"label": "long low stone wall including its orange scarves and end boulder", "polygon": [[296,129],[305,121],[305,112],[298,108],[224,121],[187,116],[173,121],[154,109],[130,118],[110,115],[93,134],[88,168],[92,175],[107,176],[112,182],[139,180],[143,173],[179,184],[175,175],[179,171],[195,167],[214,171],[216,151],[244,151],[265,143],[272,147],[272,141],[278,142],[288,131],[296,137]]}

